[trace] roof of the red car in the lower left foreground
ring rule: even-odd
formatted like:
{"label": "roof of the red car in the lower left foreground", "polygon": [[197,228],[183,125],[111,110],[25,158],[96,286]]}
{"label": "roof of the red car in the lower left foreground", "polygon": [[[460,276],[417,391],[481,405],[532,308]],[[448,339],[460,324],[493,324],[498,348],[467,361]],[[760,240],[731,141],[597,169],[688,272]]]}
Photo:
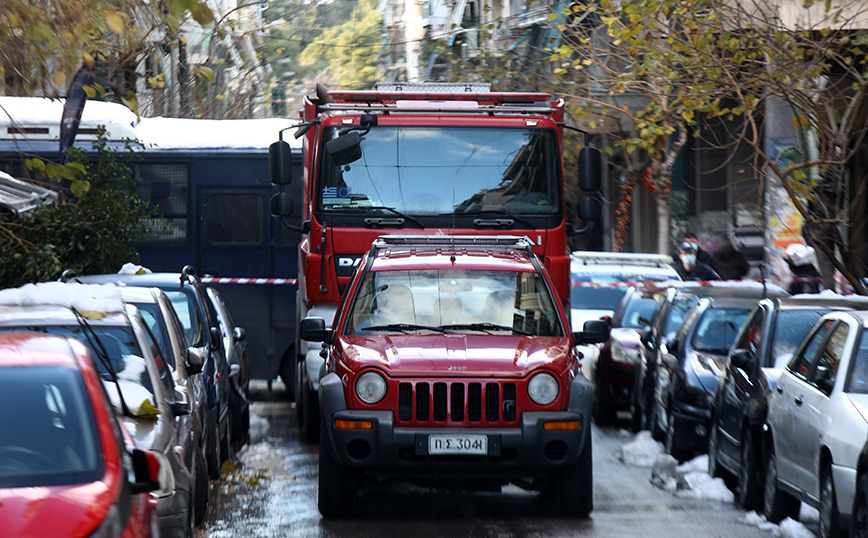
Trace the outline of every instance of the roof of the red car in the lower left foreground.
{"label": "roof of the red car in the lower left foreground", "polygon": [[60,336],[29,331],[0,332],[0,366],[76,366],[82,346]]}

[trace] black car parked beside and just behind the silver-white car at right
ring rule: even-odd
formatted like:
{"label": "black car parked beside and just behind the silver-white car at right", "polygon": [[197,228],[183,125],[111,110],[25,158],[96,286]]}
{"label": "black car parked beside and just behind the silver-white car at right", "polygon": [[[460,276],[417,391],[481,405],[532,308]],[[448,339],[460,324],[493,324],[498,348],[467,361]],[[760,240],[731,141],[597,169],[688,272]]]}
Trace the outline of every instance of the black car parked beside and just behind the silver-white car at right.
{"label": "black car parked beside and just behind the silver-white car at right", "polygon": [[864,300],[831,294],[764,299],[742,325],[714,397],[708,472],[734,483],[744,508],[762,505],[762,427],[782,368],[823,314],[866,307]]}

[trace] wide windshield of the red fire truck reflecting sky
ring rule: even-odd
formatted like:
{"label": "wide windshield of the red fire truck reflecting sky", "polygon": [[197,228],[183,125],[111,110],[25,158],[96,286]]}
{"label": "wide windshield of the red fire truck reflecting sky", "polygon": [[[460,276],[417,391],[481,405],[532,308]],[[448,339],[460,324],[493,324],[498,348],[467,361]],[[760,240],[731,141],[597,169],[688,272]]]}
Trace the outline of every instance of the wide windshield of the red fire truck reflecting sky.
{"label": "wide windshield of the red fire truck reflecting sky", "polygon": [[373,127],[349,164],[322,152],[317,211],[560,215],[558,151],[552,129]]}

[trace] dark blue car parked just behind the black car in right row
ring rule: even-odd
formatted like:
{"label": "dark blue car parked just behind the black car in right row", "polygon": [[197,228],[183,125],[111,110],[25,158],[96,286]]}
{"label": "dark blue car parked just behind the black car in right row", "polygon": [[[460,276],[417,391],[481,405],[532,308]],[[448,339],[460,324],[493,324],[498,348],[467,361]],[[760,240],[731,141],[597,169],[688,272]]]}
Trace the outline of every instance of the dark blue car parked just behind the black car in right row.
{"label": "dark blue car parked just behind the black car in right row", "polygon": [[[707,449],[713,397],[739,328],[768,288],[732,286],[704,296],[663,341],[654,379],[655,424],[665,425],[666,452],[685,460]],[[780,296],[786,295],[786,292]]]}

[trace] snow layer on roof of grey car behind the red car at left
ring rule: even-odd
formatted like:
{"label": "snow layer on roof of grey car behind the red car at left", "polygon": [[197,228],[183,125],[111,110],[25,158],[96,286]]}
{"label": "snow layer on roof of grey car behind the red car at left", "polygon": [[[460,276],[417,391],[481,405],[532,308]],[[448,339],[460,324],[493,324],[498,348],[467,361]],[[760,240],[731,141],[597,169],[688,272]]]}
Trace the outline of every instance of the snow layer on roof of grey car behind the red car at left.
{"label": "snow layer on roof of grey car behind the red car at left", "polygon": [[0,291],[3,306],[61,306],[79,312],[122,312],[124,303],[115,286],[40,282]]}

